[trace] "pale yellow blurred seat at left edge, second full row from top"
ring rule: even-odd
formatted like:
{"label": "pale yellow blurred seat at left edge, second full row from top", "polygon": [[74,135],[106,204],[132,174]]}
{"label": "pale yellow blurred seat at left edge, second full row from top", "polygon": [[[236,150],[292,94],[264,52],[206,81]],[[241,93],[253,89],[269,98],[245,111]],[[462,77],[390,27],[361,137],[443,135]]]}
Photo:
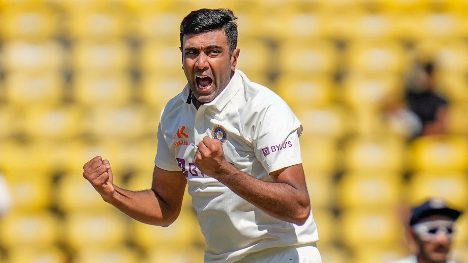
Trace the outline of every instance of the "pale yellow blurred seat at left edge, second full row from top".
{"label": "pale yellow blurred seat at left edge, second full row from top", "polygon": [[14,70],[58,71],[63,66],[63,48],[58,42],[10,41],[3,43],[3,68]]}

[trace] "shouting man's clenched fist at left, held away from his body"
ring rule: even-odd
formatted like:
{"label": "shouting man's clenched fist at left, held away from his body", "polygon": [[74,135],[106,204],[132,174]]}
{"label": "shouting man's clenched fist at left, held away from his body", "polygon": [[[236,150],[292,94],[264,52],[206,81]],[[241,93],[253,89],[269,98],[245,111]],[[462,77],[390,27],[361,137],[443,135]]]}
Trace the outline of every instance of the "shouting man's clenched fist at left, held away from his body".
{"label": "shouting man's clenched fist at left, held away from his body", "polygon": [[83,170],[83,177],[93,185],[104,201],[109,202],[115,191],[109,161],[102,161],[101,156],[96,156],[85,163]]}

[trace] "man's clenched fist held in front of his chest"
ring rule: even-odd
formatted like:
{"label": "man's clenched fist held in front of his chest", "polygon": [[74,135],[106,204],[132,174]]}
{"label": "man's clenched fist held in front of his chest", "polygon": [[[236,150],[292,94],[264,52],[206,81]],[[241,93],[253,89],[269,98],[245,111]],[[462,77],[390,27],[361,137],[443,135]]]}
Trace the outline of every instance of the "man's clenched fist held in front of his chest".
{"label": "man's clenched fist held in front of his chest", "polygon": [[223,145],[219,140],[205,136],[197,147],[194,162],[202,173],[213,178],[226,173],[229,163],[224,156]]}

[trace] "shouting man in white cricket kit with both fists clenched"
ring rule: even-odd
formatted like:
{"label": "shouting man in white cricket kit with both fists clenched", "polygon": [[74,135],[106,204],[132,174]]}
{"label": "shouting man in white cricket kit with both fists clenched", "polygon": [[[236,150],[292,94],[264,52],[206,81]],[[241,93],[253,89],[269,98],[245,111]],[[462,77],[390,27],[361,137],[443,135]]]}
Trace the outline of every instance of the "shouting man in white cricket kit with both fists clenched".
{"label": "shouting man in white cricket kit with both fists clenched", "polygon": [[83,176],[106,202],[159,226],[176,220],[188,183],[205,262],[320,263],[302,125],[278,95],[236,70],[235,19],[228,9],[201,9],[181,23],[188,83],[161,113],[151,190],[117,187],[100,156]]}

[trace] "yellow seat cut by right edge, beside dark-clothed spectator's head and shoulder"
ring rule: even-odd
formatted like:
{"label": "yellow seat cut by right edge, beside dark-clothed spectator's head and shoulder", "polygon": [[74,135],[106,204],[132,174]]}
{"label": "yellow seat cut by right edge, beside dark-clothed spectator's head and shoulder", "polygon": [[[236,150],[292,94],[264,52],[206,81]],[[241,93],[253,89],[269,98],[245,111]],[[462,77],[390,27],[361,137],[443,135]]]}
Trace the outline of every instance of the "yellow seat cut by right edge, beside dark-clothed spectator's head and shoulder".
{"label": "yellow seat cut by right edge, beside dark-clothed spectator's head and shoulder", "polygon": [[437,91],[450,102],[465,104],[468,102],[468,78],[464,73],[442,73],[437,81],[439,83]]}

